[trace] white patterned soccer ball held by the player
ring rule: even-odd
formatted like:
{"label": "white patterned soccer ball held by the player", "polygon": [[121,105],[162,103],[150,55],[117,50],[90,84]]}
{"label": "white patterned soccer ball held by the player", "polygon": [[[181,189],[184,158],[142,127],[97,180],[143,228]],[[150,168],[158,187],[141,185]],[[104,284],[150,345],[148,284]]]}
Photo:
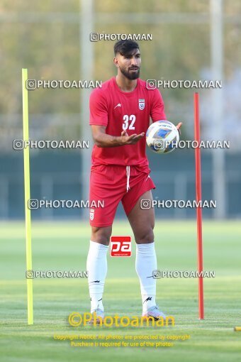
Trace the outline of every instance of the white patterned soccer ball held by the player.
{"label": "white patterned soccer ball held by the player", "polygon": [[147,146],[155,153],[170,153],[179,142],[179,131],[169,121],[157,121],[146,133]]}

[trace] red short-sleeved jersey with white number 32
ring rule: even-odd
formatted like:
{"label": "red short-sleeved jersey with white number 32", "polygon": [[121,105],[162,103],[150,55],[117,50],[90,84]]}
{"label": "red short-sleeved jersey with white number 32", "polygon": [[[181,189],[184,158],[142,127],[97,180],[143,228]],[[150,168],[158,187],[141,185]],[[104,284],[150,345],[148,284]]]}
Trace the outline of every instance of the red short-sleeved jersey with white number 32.
{"label": "red short-sleeved jersey with white number 32", "polygon": [[[89,99],[89,124],[106,126],[106,134],[120,136],[126,130],[128,136],[147,131],[152,121],[166,119],[164,103],[158,89],[147,89],[146,82],[137,79],[132,92],[123,92],[113,77],[96,88]],[[94,145],[92,165],[147,166],[145,136],[135,145],[100,148]]]}

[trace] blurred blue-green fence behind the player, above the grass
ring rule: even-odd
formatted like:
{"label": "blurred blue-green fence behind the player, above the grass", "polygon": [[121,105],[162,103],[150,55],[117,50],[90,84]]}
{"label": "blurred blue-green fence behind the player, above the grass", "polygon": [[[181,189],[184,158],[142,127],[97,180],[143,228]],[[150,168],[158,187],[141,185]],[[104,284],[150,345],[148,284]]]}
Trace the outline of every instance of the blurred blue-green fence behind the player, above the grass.
{"label": "blurred blue-green fence behind the player, above the grass", "polygon": [[[213,199],[212,155],[206,150],[202,153],[203,199]],[[175,155],[155,155],[148,151],[152,178],[157,186],[153,197],[157,200],[195,199],[194,151],[176,150]],[[23,199],[23,157],[5,156],[0,159],[3,168],[0,173],[0,218],[22,219],[24,217]],[[89,180],[82,177],[82,158],[78,152],[38,153],[30,158],[31,198],[46,200],[84,199],[84,184]],[[226,155],[225,202],[227,218],[240,218],[240,154]],[[218,204],[217,204],[218,207]],[[203,208],[203,216],[214,217],[215,209]],[[196,210],[190,208],[157,208],[157,217],[194,218]],[[125,217],[122,206],[118,217]],[[41,208],[32,211],[33,219],[86,219],[83,209]]]}

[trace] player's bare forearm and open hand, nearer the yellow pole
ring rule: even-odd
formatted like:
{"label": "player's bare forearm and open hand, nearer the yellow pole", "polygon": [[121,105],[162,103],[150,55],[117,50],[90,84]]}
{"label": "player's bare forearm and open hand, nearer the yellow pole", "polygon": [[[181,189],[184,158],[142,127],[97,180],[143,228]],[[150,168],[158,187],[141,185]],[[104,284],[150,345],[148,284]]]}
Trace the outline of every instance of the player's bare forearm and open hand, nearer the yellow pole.
{"label": "player's bare forearm and open hand, nearer the yellow pole", "polygon": [[92,136],[94,143],[97,147],[117,147],[125,145],[134,145],[141,138],[145,136],[145,132],[140,134],[134,133],[131,136],[128,136],[126,131],[122,131],[120,136],[111,136],[106,134],[105,126],[91,126]]}

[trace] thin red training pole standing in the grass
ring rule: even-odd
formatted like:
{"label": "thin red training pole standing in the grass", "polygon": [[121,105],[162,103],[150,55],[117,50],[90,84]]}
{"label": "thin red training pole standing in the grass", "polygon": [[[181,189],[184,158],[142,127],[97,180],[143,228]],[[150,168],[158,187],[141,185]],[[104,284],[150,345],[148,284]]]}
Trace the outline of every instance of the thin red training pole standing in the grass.
{"label": "thin red training pole standing in the grass", "polygon": [[[200,143],[200,120],[199,120],[199,94],[194,93],[194,140]],[[195,148],[195,172],[196,172],[196,202],[201,202],[201,153],[200,148]],[[196,207],[197,224],[197,248],[198,248],[198,273],[203,272],[203,237],[202,237],[202,209]],[[203,302],[203,277],[198,277],[198,309],[199,319],[204,319]]]}

